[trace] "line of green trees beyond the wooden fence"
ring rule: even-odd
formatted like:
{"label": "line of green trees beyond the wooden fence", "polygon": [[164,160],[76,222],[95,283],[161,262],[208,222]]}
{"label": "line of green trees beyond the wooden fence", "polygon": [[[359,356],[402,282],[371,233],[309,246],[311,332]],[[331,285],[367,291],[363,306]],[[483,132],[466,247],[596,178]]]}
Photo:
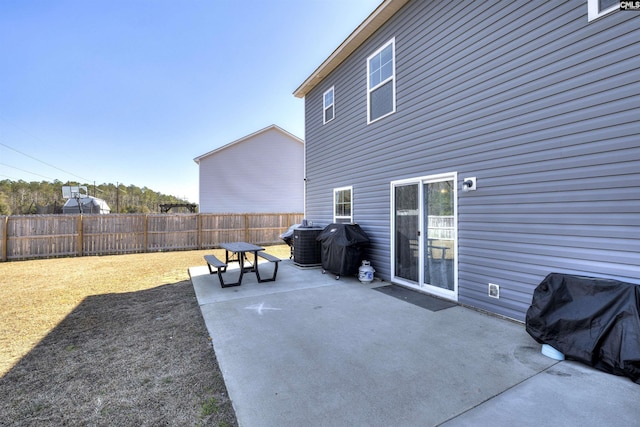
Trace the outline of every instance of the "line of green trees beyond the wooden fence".
{"label": "line of green trees beyond the wooden fence", "polygon": [[157,213],[160,204],[181,204],[188,201],[150,190],[147,187],[124,184],[77,184],[55,180],[0,181],[0,215],[33,215],[62,213],[66,199],[63,186],[85,186],[90,196],[104,200],[111,213]]}

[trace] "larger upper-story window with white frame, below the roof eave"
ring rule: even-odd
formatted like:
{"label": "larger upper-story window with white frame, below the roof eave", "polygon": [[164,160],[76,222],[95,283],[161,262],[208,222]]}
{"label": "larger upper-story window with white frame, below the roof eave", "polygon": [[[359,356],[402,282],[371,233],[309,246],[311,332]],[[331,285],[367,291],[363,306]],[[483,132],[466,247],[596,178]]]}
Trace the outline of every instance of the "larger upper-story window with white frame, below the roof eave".
{"label": "larger upper-story window with white frame, below the roof eave", "polygon": [[393,38],[367,58],[367,123],[396,111],[395,44]]}

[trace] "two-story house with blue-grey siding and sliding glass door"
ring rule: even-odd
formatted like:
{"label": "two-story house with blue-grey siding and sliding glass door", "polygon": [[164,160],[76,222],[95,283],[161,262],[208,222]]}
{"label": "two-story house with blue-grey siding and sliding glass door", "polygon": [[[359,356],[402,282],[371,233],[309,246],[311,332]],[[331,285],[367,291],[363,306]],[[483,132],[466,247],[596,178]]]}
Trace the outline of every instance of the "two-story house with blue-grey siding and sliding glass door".
{"label": "two-story house with blue-grey siding and sliding glass door", "polygon": [[520,321],[550,272],[640,284],[638,40],[618,2],[384,1],[294,93],[305,217]]}

